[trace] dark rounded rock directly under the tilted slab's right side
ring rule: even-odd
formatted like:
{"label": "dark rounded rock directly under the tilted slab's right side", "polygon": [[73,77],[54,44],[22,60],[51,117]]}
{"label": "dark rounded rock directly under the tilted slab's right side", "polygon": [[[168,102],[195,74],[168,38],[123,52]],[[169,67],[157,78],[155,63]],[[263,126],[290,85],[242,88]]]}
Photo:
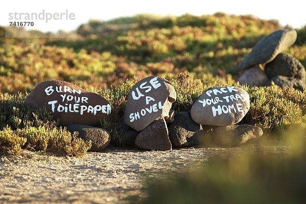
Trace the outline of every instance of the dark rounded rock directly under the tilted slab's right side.
{"label": "dark rounded rock directly under the tilted slab's right side", "polygon": [[306,76],[305,68],[300,61],[287,53],[277,55],[272,62],[266,64],[265,72],[270,79],[283,75],[305,81]]}

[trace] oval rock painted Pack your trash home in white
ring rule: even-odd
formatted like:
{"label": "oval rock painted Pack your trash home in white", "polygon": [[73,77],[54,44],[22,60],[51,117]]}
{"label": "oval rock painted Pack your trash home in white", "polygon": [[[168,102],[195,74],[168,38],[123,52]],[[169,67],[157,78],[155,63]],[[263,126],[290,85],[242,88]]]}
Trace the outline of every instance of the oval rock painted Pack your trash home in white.
{"label": "oval rock painted Pack your trash home in white", "polygon": [[198,124],[227,126],[242,120],[250,109],[248,93],[238,87],[212,87],[194,102],[190,114]]}

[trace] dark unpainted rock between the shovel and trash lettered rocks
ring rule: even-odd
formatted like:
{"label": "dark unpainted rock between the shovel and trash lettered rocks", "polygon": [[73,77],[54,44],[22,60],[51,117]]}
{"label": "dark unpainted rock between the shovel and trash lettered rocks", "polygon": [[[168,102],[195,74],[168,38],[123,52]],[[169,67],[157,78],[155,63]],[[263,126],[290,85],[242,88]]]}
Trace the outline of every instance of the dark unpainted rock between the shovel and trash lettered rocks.
{"label": "dark unpainted rock between the shovel and trash lettered rocks", "polygon": [[188,147],[199,145],[197,137],[194,134],[201,130],[201,125],[195,123],[189,112],[182,111],[177,113],[169,127],[169,139],[175,147]]}

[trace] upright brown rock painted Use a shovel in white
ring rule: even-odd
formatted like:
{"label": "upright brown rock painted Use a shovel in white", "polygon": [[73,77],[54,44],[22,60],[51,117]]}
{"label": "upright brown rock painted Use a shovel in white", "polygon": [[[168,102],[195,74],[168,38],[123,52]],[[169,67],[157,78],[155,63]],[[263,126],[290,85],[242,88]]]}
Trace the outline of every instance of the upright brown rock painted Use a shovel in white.
{"label": "upright brown rock painted Use a shovel in white", "polygon": [[170,117],[176,99],[173,86],[160,77],[147,77],[133,86],[124,111],[124,122],[140,132],[157,118]]}

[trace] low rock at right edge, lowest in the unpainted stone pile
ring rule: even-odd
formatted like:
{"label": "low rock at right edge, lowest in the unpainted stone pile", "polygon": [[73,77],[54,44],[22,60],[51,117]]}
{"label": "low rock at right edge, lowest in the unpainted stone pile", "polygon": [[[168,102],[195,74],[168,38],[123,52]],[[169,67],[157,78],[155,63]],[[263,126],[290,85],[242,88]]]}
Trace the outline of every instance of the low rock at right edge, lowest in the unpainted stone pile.
{"label": "low rock at right edge, lowest in the unpainted stone pile", "polygon": [[294,79],[290,77],[284,77],[284,76],[277,76],[277,77],[272,78],[272,81],[274,82],[274,84],[282,88],[297,89],[302,92],[306,90],[306,84],[302,80],[298,80],[298,79]]}

